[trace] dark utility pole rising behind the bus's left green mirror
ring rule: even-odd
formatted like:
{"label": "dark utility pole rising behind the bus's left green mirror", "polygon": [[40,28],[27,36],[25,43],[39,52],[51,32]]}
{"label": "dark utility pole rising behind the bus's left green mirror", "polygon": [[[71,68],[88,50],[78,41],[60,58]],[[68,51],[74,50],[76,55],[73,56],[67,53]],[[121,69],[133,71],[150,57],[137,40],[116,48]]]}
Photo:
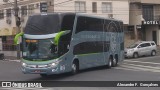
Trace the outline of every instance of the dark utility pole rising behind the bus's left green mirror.
{"label": "dark utility pole rising behind the bus's left green mirror", "polygon": [[[9,0],[3,0],[3,2],[10,2]],[[18,16],[18,11],[19,11],[19,8],[18,8],[18,4],[17,4],[17,0],[14,0],[14,12],[15,12],[15,21],[16,21],[16,26],[17,26],[17,31],[20,31],[20,17]],[[17,58],[20,59],[20,45],[18,44],[17,45]]]}

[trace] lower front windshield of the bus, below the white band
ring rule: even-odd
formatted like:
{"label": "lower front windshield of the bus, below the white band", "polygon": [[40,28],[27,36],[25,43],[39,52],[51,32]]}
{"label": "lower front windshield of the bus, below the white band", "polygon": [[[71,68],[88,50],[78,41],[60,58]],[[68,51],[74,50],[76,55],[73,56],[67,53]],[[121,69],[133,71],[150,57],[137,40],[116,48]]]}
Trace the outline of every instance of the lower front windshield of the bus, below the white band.
{"label": "lower front windshield of the bus, below the white band", "polygon": [[50,60],[58,57],[57,46],[52,39],[29,40],[25,39],[23,58],[30,60]]}

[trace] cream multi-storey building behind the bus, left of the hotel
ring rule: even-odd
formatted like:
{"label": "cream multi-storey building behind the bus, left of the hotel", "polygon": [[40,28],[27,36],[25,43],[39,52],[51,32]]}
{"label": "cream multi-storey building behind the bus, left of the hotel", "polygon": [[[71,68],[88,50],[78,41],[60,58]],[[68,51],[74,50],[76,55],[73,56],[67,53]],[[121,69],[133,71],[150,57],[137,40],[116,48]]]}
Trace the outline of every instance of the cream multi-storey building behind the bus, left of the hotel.
{"label": "cream multi-storey building behind the bus, left of the hotel", "polygon": [[[10,0],[11,1],[11,0]],[[14,1],[14,0],[12,0]],[[18,0],[21,29],[17,29],[14,8],[10,3],[0,1],[0,41],[3,51],[16,50],[13,37],[23,31],[30,15],[41,13],[41,3],[47,3],[47,12],[75,12],[122,20],[129,25],[128,0]]]}

